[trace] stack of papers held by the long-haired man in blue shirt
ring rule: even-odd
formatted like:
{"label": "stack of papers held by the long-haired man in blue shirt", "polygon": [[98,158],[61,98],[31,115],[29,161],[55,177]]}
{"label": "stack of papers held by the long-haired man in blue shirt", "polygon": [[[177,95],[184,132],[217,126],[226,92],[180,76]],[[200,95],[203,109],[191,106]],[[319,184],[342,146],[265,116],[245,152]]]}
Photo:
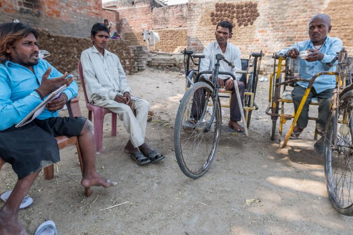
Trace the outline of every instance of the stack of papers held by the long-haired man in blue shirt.
{"label": "stack of papers held by the long-haired man in blue shirt", "polygon": [[61,86],[58,89],[56,89],[55,91],[53,91],[52,93],[50,93],[39,105],[37,105],[37,107],[35,107],[30,113],[28,113],[25,117],[23,117],[21,122],[19,122],[15,127],[16,128],[22,127],[22,126],[32,122],[34,119],[36,119],[36,117],[43,112],[47,103],[58,98],[60,96],[61,92],[65,88],[66,88],[66,85]]}

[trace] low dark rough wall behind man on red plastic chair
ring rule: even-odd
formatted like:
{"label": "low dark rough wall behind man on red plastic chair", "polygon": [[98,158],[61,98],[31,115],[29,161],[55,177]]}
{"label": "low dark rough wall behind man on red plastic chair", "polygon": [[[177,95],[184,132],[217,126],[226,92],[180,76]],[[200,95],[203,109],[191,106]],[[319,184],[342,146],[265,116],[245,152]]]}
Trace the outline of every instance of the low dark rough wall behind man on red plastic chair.
{"label": "low dark rough wall behind man on red plastic chair", "polygon": [[[53,34],[44,30],[41,31],[39,43],[40,49],[51,53],[46,60],[62,73],[76,71],[81,53],[92,46],[89,38]],[[135,60],[137,57],[134,48],[128,41],[112,40],[107,49],[119,56],[125,72],[136,71]]]}

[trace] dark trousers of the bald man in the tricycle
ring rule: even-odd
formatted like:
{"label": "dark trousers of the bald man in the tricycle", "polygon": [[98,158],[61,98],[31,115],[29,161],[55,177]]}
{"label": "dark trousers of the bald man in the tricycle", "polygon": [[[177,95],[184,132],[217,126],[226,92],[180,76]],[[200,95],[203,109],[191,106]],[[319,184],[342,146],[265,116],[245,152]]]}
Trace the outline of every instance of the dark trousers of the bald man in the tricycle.
{"label": "dark trousers of the bald man in the tricycle", "polygon": [[[292,91],[292,98],[294,102],[294,109],[297,112],[300,101],[303,98],[306,88],[296,85]],[[317,116],[316,120],[316,129],[319,133],[325,132],[325,125],[328,119],[328,115],[330,112],[331,106],[331,98],[333,95],[333,89],[327,89],[321,93],[316,93],[315,89],[312,87],[308,98],[304,104],[304,107],[299,115],[297,126],[299,128],[306,128],[309,120],[309,103],[311,102],[311,98],[317,97],[317,101],[319,102],[319,116]]]}

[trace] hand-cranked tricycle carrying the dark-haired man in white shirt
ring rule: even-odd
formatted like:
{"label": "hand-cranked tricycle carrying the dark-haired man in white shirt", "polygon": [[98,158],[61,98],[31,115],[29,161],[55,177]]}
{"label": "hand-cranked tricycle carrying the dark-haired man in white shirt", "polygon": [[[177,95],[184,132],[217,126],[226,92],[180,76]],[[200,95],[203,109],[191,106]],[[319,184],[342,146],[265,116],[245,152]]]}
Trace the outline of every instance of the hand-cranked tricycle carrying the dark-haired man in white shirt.
{"label": "hand-cranked tricycle carrying the dark-haired man in white shirt", "polygon": [[[217,84],[218,74],[233,77],[235,81],[236,79],[233,73],[219,71],[221,60],[234,68],[234,65],[221,54],[215,57],[217,62],[213,71],[199,72],[199,63],[196,63],[194,58],[199,58],[200,62],[204,56],[195,55],[193,51],[187,50],[182,53],[185,55],[186,93],[175,118],[175,156],[185,175],[198,178],[206,173],[216,155],[222,126],[220,98],[229,99],[231,94],[229,91],[220,91]],[[246,88],[243,107],[238,87],[234,86],[238,105],[243,107],[240,113],[246,136],[248,136],[247,127],[250,125],[251,112],[257,109],[254,98],[262,56],[262,52],[251,54],[249,60],[242,60],[242,70],[235,71],[235,73],[243,74],[240,81],[245,84]],[[197,65],[197,68],[190,69],[190,60]],[[202,74],[212,74],[213,78],[205,79]],[[222,107],[229,107],[229,104]]]}

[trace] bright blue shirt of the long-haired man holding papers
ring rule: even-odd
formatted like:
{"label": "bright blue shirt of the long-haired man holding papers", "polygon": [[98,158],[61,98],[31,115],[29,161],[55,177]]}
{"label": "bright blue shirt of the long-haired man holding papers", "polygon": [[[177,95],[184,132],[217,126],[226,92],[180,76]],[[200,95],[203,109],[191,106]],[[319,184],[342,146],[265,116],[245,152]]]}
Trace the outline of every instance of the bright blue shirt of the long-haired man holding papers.
{"label": "bright blue shirt of the long-haired man holding papers", "polygon": [[[39,88],[42,75],[52,67],[49,77],[62,76],[56,68],[46,60],[38,59],[38,64],[33,66],[34,73],[28,68],[6,61],[0,64],[0,131],[19,123],[31,110],[42,102],[34,89]],[[37,82],[38,80],[38,82]],[[77,96],[78,85],[73,81],[64,91],[67,99]],[[47,108],[37,117],[45,120],[58,116],[58,111],[52,112]]]}

